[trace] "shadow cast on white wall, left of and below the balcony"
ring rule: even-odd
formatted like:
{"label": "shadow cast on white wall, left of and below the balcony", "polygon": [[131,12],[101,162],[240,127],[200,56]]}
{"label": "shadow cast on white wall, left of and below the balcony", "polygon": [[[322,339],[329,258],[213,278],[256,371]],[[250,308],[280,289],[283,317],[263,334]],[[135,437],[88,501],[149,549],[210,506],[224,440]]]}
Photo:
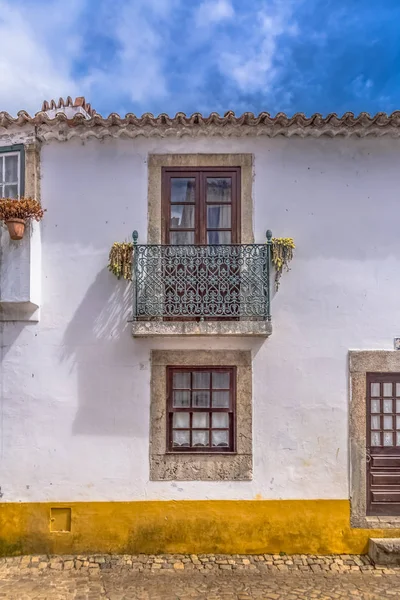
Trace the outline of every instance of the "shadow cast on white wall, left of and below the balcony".
{"label": "shadow cast on white wall, left of and below the balcony", "polygon": [[148,365],[135,361],[128,322],[131,297],[131,285],[103,269],[66,329],[61,361],[68,361],[71,376],[77,378],[74,434],[143,434],[137,418],[143,399],[137,371],[148,370]]}

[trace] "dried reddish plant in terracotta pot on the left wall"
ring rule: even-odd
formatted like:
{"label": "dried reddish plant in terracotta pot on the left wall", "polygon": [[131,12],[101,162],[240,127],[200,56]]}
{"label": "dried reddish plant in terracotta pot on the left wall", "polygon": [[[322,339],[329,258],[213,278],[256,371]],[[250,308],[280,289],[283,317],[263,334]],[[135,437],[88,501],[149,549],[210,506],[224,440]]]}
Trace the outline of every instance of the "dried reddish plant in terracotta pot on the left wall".
{"label": "dried reddish plant in terracotta pot on the left wall", "polygon": [[32,198],[0,198],[0,221],[7,225],[12,240],[24,237],[27,221],[43,219],[45,209]]}

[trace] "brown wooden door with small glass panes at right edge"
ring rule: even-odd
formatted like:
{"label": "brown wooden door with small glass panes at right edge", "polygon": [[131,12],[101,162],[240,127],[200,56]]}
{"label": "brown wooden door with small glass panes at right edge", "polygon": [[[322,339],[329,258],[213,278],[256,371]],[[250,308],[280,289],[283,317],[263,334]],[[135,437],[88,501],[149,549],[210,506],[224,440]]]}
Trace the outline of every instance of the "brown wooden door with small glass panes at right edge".
{"label": "brown wooden door with small glass panes at right edge", "polygon": [[367,375],[367,515],[400,515],[400,373]]}

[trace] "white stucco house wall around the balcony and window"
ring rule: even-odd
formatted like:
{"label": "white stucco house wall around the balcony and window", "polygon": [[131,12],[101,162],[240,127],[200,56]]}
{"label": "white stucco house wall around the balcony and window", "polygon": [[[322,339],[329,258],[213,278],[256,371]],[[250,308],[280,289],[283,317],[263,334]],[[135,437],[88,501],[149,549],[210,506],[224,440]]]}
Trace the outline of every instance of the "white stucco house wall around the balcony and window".
{"label": "white stucco house wall around the balcony and window", "polygon": [[[348,497],[349,348],[400,333],[399,142],[199,139],[42,148],[38,323],[0,323],[2,501]],[[293,236],[260,340],[134,340],[113,241],[147,228],[149,152],[252,152],[255,238]],[[252,482],[149,482],[151,348],[251,348]]]}

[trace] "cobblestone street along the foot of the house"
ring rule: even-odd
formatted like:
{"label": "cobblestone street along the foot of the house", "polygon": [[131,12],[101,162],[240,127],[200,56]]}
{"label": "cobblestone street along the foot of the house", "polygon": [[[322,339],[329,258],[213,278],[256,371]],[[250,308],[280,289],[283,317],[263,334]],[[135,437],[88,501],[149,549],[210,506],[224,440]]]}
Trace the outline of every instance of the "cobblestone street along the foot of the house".
{"label": "cobblestone street along the foot of the house", "polygon": [[364,556],[96,556],[0,559],[7,600],[400,599],[400,569]]}

